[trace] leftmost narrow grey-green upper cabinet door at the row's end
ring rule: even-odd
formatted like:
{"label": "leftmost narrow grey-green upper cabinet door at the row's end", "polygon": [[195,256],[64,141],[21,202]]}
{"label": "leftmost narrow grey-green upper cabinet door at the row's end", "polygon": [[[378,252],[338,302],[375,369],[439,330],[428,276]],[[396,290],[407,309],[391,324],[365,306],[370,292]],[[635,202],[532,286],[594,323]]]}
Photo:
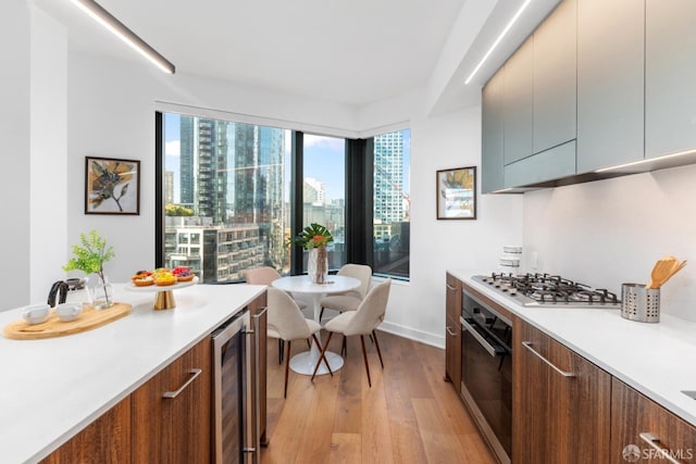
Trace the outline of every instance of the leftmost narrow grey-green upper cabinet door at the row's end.
{"label": "leftmost narrow grey-green upper cabinet door at the row's end", "polygon": [[482,93],[482,176],[481,191],[489,193],[504,188],[502,164],[502,103],[505,97],[505,68],[495,74]]}

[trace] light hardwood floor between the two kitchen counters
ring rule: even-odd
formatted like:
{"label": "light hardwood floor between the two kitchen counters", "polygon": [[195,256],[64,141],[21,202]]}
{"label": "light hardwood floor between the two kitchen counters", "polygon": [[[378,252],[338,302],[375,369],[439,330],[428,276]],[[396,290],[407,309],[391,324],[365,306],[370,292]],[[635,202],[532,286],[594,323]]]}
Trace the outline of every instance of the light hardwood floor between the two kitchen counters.
{"label": "light hardwood floor between the two kitchen counters", "polygon": [[[316,377],[290,371],[283,399],[284,366],[277,340],[269,340],[268,437],[261,463],[494,463],[452,386],[444,381],[445,351],[377,333],[384,371],[369,339],[372,388],[360,338],[348,339],[344,367]],[[323,340],[326,334],[323,333]],[[307,343],[293,343],[293,354]],[[340,351],[335,335],[330,350]]]}

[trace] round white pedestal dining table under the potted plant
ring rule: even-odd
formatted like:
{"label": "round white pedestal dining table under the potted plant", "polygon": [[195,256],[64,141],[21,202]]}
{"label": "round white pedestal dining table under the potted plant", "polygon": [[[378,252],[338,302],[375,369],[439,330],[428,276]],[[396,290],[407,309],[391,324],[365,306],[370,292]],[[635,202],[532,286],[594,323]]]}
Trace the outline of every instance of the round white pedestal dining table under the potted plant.
{"label": "round white pedestal dining table under the potted plant", "polygon": [[[326,294],[355,290],[356,288],[360,287],[360,280],[353,277],[330,275],[325,284],[312,284],[312,281],[309,279],[309,276],[301,275],[281,277],[279,279],[273,280],[271,285],[279,290],[284,290],[289,293],[299,293],[306,296],[312,303],[312,309],[314,311],[314,321],[319,323],[319,314],[322,310],[320,304],[321,299]],[[290,359],[290,368],[298,374],[312,375],[320,355],[321,353],[319,351],[319,347],[316,347],[316,344],[312,341],[312,346],[309,351],[298,353]],[[328,361],[328,365],[331,366],[332,372],[338,371],[343,367],[344,359],[340,356],[340,354],[326,351],[325,356],[326,361]],[[324,374],[328,374],[328,369],[326,368],[324,363],[321,363],[319,369],[316,371],[316,375]]]}

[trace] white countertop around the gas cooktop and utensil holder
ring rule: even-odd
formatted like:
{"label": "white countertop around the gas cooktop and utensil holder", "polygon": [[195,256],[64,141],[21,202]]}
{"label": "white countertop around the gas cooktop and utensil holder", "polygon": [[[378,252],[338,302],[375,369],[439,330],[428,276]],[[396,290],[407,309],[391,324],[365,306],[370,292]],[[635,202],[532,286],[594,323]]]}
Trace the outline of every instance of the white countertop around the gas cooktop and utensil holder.
{"label": "white countertop around the gas cooktop and utensil holder", "polygon": [[448,272],[696,426],[696,400],[682,393],[696,390],[696,323],[663,311],[647,324],[619,310],[525,308],[472,280],[471,272]]}

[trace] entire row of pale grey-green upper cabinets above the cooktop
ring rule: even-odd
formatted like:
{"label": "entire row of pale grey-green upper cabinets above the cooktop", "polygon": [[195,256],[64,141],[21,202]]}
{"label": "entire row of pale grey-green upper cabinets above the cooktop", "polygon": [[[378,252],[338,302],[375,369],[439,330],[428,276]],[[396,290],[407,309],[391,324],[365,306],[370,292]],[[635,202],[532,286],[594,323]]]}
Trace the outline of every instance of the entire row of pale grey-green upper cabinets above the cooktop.
{"label": "entire row of pale grey-green upper cabinets above the cooktop", "polygon": [[696,163],[694,21],[694,0],[561,1],[483,90],[483,192]]}

